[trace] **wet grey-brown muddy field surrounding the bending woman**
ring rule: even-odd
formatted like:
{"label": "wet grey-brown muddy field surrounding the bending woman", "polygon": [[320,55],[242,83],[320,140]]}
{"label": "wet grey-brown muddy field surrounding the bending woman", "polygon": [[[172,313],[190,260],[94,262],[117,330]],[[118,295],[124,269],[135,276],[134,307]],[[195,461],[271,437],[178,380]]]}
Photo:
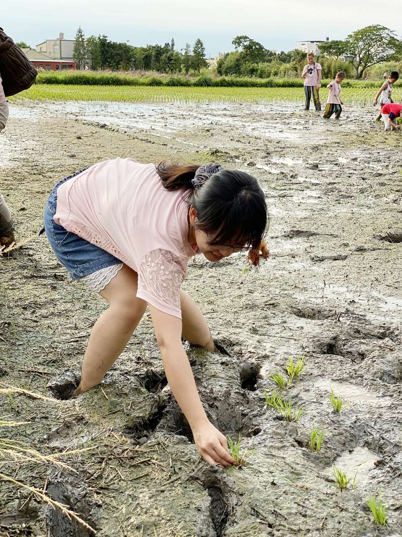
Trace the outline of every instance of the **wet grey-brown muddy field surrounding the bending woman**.
{"label": "wet grey-brown muddy field surrounding the bending woman", "polygon": [[[75,472],[1,459],[0,471],[47,490],[101,537],[402,535],[400,134],[385,135],[374,111],[324,121],[291,103],[21,103],[10,118],[0,190],[19,240],[40,228],[54,183],[96,161],[213,160],[259,179],[271,257],[244,275],[242,255],[197,257],[184,284],[229,353],[187,347],[210,419],[251,450],[241,468],[200,461],[146,314],[101,387],[70,401],[0,396],[0,419],[28,422],[3,437],[44,454],[91,448],[62,457]],[[79,371],[105,303],[71,284],[43,236],[0,270],[0,381],[50,395],[49,382]],[[285,394],[304,409],[297,423],[264,398],[291,356],[307,365]],[[332,411],[331,388],[344,412]],[[325,429],[318,453],[312,426]],[[333,466],[355,488],[340,492]],[[366,506],[378,492],[388,528]],[[2,537],[91,534],[0,484]]]}

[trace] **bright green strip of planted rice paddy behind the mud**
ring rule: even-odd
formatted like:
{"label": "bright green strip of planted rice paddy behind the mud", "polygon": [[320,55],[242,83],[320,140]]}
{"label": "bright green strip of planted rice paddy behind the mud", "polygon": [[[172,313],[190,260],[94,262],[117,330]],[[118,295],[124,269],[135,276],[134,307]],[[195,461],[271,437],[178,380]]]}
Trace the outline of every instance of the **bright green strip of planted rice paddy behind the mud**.
{"label": "bright green strip of planted rice paddy behind the mud", "polygon": [[[373,88],[344,88],[341,98],[345,104],[371,106],[376,94]],[[328,90],[320,90],[322,103]],[[402,89],[394,88],[393,100],[402,98]],[[169,86],[104,86],[35,84],[18,93],[11,100],[61,100],[61,101],[121,101],[129,103],[256,103],[269,104],[280,101],[302,103],[302,88],[180,88]]]}

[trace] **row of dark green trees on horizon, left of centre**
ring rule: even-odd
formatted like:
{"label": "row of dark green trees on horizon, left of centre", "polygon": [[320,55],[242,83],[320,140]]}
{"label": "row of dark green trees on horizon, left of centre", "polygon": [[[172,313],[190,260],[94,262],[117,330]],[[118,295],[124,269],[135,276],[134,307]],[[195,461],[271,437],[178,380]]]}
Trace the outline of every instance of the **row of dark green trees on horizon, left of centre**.
{"label": "row of dark green trees on horizon, left of centre", "polygon": [[208,66],[205,59],[205,46],[196,39],[191,47],[189,43],[184,50],[175,50],[174,39],[165,45],[147,45],[135,47],[127,42],[110,41],[107,35],[91,35],[85,39],[81,27],[78,28],[73,48],[73,60],[77,68],[86,65],[93,70],[112,69],[129,71],[144,69],[163,73],[200,72]]}

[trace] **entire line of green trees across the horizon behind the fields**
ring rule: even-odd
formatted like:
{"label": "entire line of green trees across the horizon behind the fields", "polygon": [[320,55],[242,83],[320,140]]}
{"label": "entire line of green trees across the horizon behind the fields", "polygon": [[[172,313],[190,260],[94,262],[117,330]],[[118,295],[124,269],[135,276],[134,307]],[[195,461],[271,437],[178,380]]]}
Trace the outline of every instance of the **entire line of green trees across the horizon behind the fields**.
{"label": "entire line of green trees across the horizon behind the fields", "polygon": [[[237,35],[232,44],[235,50],[217,62],[220,76],[296,76],[306,63],[306,54],[302,50],[276,53],[247,35]],[[402,41],[394,31],[381,25],[356,30],[344,40],[323,41],[319,50],[324,77],[334,76],[338,69],[342,69],[349,78],[363,78],[367,69],[376,64],[402,60]],[[127,42],[110,41],[106,35],[91,35],[85,39],[81,27],[76,34],[73,59],[78,69],[87,64],[94,70],[143,69],[169,74],[199,74],[208,66],[205,46],[199,38],[192,47],[187,43],[179,52],[175,49],[174,39],[163,46],[135,47]]]}

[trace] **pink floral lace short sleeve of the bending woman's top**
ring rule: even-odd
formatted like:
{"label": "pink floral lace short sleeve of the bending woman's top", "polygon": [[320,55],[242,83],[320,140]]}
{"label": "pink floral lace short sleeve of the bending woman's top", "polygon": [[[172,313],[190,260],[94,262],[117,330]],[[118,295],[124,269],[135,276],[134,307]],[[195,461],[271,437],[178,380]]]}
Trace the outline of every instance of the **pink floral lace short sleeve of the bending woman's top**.
{"label": "pink floral lace short sleeve of the bending woman's top", "polygon": [[152,250],[139,260],[137,269],[137,296],[181,318],[180,286],[187,271],[187,258],[169,250]]}

